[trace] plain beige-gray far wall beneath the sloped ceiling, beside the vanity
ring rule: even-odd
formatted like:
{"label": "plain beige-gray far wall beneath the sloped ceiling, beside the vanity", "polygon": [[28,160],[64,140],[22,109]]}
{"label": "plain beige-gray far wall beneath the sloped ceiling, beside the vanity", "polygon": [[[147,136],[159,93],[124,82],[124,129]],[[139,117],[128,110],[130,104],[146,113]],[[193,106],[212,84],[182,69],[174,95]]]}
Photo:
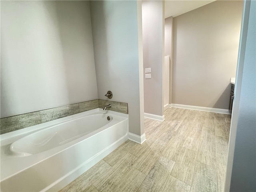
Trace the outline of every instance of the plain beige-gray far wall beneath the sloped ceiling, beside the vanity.
{"label": "plain beige-gray far wall beneath the sloped ceiling, beside the vanity", "polygon": [[173,20],[172,103],[228,109],[242,1],[215,1]]}

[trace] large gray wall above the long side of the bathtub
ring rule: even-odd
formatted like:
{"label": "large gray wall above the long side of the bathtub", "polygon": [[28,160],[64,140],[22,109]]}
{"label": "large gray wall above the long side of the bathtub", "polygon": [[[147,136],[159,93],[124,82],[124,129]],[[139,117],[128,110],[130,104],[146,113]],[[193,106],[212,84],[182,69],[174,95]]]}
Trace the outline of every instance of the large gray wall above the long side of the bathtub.
{"label": "large gray wall above the long side of the bathtub", "polygon": [[1,2],[1,117],[97,99],[88,1]]}

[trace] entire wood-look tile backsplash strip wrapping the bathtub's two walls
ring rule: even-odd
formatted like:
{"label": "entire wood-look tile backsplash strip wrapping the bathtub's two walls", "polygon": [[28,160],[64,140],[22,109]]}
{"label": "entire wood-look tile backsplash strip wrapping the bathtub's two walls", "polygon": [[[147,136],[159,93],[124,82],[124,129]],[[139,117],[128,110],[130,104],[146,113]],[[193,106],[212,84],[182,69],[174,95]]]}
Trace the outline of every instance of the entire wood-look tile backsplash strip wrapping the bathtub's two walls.
{"label": "entire wood-look tile backsplash strip wrapping the bathtub's two walls", "polygon": [[127,103],[95,99],[91,101],[1,118],[0,134],[5,134],[84,111],[103,108],[104,105],[108,104],[111,104],[111,108],[108,108],[108,110],[128,114]]}

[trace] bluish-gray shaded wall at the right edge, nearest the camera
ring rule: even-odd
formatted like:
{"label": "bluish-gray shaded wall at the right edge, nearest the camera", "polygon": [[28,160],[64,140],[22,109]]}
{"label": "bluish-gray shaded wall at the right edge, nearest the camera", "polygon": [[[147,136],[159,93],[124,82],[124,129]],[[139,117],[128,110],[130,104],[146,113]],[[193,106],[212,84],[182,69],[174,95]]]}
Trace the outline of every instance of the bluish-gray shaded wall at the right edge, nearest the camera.
{"label": "bluish-gray shaded wall at the right edge, nearest the camera", "polygon": [[[251,1],[236,129],[231,192],[256,191],[256,2]],[[243,43],[243,42],[242,42]],[[236,102],[236,98],[235,98]],[[234,117],[232,117],[234,118]],[[232,124],[233,125],[233,124]],[[231,125],[231,131],[232,131]]]}

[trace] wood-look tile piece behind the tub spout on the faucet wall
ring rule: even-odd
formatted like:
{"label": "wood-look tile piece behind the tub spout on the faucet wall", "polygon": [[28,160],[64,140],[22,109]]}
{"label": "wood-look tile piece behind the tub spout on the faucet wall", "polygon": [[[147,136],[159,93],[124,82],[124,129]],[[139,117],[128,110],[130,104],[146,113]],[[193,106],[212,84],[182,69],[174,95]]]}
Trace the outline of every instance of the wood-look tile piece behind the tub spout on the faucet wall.
{"label": "wood-look tile piece behind the tub spout on the faucet wall", "polygon": [[127,103],[99,99],[99,108],[104,108],[104,106],[108,104],[111,104],[111,107],[108,108],[108,110],[128,114]]}

